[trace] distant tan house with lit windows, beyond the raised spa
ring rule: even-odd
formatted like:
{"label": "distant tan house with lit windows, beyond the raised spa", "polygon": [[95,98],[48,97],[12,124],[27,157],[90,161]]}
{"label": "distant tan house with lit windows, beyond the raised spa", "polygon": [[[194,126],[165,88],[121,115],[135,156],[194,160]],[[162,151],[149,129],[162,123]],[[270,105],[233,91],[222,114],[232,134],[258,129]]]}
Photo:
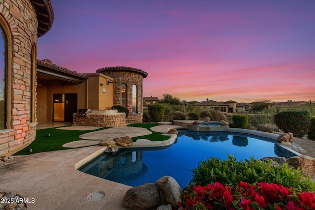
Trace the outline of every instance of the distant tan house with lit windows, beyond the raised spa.
{"label": "distant tan house with lit windows, beyond the raised spa", "polygon": [[219,110],[221,112],[236,112],[236,101],[226,101],[226,102],[218,102],[213,100],[208,100],[204,102],[200,102],[196,104],[196,106],[200,106],[200,110],[206,109],[214,109]]}

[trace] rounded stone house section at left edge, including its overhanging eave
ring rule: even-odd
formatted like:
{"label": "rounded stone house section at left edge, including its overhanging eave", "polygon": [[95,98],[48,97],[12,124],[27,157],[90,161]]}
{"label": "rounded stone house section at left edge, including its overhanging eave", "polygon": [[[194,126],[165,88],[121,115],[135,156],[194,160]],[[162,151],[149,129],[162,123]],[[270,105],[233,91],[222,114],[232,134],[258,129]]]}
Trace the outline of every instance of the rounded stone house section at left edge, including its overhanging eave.
{"label": "rounded stone house section at left edge, including its overhanging eave", "polygon": [[0,156],[35,139],[37,39],[53,21],[50,0],[0,1]]}

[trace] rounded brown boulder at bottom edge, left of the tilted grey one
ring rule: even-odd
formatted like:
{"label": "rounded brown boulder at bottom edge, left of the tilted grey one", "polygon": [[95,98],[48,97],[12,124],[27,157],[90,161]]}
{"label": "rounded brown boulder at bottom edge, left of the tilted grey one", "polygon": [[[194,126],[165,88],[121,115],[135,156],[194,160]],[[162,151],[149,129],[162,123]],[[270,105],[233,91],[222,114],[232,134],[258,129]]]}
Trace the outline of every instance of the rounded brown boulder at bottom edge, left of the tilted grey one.
{"label": "rounded brown boulder at bottom edge, left of the tilted grey one", "polygon": [[154,183],[146,183],[130,188],[123,200],[123,206],[130,210],[152,210],[160,204],[158,188]]}

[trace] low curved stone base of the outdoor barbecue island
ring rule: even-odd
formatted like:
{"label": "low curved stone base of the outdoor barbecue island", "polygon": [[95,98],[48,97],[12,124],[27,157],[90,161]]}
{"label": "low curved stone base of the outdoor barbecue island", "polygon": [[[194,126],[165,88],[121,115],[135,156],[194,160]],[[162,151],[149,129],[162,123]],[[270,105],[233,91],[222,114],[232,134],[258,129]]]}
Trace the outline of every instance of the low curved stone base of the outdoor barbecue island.
{"label": "low curved stone base of the outdoor barbecue island", "polygon": [[88,114],[87,116],[73,115],[73,125],[118,127],[126,125],[126,114]]}

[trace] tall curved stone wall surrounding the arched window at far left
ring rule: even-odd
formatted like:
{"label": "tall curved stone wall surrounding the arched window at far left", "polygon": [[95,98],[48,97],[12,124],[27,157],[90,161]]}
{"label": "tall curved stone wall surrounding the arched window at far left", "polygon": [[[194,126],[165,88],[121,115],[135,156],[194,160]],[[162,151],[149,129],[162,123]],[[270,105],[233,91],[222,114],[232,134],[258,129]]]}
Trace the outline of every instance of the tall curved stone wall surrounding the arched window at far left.
{"label": "tall curved stone wall surrounding the arched window at far left", "polygon": [[[0,156],[18,150],[35,139],[36,123],[32,123],[36,99],[31,94],[32,57],[36,56],[37,17],[29,0],[0,0],[0,16],[5,19],[8,35],[8,99],[7,128],[0,130]],[[1,23],[3,25],[3,23]],[[3,26],[6,28],[5,26]],[[35,62],[35,61],[34,61]],[[34,90],[35,91],[35,88]],[[33,105],[31,105],[31,97]],[[33,121],[36,121],[33,114]]]}

